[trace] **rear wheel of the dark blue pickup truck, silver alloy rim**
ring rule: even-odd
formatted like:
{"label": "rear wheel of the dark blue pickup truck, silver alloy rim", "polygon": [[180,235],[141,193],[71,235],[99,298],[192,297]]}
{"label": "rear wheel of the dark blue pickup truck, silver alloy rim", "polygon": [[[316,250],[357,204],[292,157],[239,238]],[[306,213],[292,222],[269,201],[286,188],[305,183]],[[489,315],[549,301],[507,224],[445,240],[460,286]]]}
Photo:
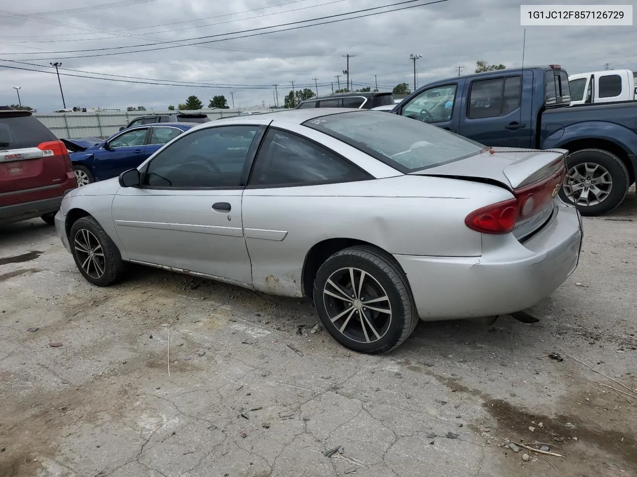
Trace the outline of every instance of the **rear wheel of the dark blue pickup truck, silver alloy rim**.
{"label": "rear wheel of the dark blue pickup truck, silver alloy rim", "polygon": [[559,196],[583,216],[598,216],[624,201],[628,183],[628,170],[619,157],[602,149],[582,149],[566,156]]}

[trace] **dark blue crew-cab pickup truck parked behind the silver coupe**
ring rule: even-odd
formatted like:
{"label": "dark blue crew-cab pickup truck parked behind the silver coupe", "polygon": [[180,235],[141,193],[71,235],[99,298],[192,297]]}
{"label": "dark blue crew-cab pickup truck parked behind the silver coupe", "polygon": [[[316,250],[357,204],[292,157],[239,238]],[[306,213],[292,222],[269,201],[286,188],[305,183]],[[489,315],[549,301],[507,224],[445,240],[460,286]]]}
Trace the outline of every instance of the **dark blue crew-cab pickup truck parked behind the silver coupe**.
{"label": "dark blue crew-cab pickup truck parked behind the silver coupe", "polygon": [[559,65],[503,69],[419,88],[392,113],[494,148],[568,149],[560,191],[583,215],[621,204],[637,171],[637,102],[571,106]]}

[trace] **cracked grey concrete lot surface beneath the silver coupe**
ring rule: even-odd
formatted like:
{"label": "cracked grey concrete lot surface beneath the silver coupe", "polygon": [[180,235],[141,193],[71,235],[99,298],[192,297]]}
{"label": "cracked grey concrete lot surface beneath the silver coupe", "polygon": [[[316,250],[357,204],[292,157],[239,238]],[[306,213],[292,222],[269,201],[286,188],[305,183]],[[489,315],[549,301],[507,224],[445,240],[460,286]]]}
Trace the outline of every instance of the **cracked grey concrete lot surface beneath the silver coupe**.
{"label": "cracked grey concrete lot surface beneath the silver coupe", "polygon": [[53,228],[5,226],[0,476],[637,476],[636,256],[632,191],[540,322],[422,322],[366,356],[306,301],[147,268],[98,288]]}

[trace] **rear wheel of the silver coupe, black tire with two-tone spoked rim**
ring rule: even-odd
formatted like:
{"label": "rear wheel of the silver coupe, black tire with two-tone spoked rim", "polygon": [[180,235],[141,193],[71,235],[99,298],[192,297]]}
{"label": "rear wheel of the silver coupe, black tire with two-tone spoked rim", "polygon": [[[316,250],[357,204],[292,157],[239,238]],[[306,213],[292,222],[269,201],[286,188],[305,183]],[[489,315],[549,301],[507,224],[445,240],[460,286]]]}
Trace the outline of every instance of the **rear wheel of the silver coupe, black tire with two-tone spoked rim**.
{"label": "rear wheel of the silver coupe, black tire with two-tone spoked rim", "polygon": [[350,247],[328,258],[318,269],[313,298],[324,328],[357,352],[395,349],[419,321],[404,273],[375,247]]}

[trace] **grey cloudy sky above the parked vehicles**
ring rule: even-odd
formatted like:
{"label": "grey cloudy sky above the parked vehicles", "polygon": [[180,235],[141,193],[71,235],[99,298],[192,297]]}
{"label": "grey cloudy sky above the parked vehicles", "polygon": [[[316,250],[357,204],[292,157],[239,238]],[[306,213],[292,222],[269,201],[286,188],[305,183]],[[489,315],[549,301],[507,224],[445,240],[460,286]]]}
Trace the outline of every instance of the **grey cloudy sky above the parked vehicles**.
{"label": "grey cloudy sky above the parked vehicles", "polygon": [[[548,0],[447,0],[333,24],[234,38],[269,31],[263,27],[399,1],[6,1],[0,10],[0,66],[4,66],[0,67],[0,105],[17,102],[12,86],[20,86],[22,104],[36,107],[39,112],[62,107],[54,74],[7,68],[51,72],[54,69],[49,64],[55,61],[62,62],[64,74],[110,79],[129,77],[129,81],[147,81],[137,79],[147,78],[154,80],[149,81],[151,83],[161,80],[170,84],[61,76],[67,107],[125,109],[143,105],[148,110],[165,109],[169,104],[185,102],[191,94],[197,95],[206,106],[208,100],[218,94],[226,95],[230,103],[230,92],[234,92],[236,106],[250,107],[262,102],[269,106],[274,101],[273,88],[269,85],[275,83],[280,85],[280,102],[291,88],[290,81],[301,87],[311,85],[314,89],[313,78],[318,78],[318,92],[328,93],[332,81],[336,88],[335,75],[341,74],[341,86],[344,86],[341,71],[346,68],[346,60],[342,55],[347,53],[355,55],[350,59],[354,87],[372,85],[376,75],[381,90],[403,81],[412,86],[413,64],[409,56],[421,54],[417,67],[418,84],[422,86],[457,75],[457,66],[463,67],[462,73],[471,73],[476,60],[480,59],[508,67],[520,66],[524,31],[520,26],[520,3],[550,3]],[[431,0],[355,15],[428,1]],[[561,3],[605,2],[563,0]],[[259,28],[262,30],[236,33]],[[613,68],[637,69],[635,26],[526,29],[527,65],[558,63],[571,73],[603,69],[605,63]],[[193,39],[197,37],[208,38]],[[211,40],[215,40],[214,43],[182,46]],[[135,52],[154,48],[162,49]],[[173,85],[180,81],[207,84]]]}

